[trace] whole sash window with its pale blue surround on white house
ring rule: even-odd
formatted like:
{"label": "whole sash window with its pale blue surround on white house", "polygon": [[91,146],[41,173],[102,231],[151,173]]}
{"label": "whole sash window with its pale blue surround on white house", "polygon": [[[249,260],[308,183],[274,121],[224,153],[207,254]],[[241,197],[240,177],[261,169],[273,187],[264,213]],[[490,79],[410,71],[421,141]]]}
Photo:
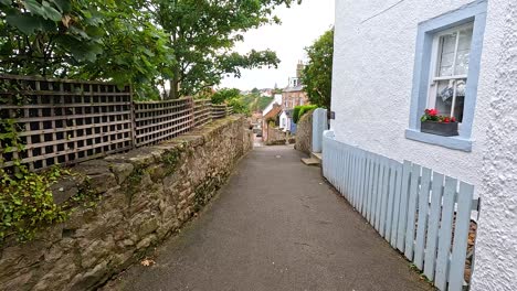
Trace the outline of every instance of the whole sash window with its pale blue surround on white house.
{"label": "whole sash window with its pale blue surround on white house", "polygon": [[[472,150],[486,9],[487,1],[477,0],[419,23],[407,139]],[[455,117],[460,136],[421,132],[420,118],[426,108]]]}

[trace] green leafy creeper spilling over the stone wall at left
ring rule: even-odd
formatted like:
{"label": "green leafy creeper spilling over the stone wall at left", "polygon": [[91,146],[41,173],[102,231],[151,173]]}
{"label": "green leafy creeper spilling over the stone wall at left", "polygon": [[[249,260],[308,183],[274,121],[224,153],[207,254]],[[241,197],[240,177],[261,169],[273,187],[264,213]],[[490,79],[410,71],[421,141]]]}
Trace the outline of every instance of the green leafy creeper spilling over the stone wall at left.
{"label": "green leafy creeper spilling over the stone wall at left", "polygon": [[60,177],[73,177],[76,173],[59,165],[34,173],[18,161],[14,169],[14,174],[0,169],[0,246],[8,237],[20,242],[32,240],[45,227],[65,222],[76,208],[95,207],[101,200],[86,177],[77,194],[57,205],[52,185]]}

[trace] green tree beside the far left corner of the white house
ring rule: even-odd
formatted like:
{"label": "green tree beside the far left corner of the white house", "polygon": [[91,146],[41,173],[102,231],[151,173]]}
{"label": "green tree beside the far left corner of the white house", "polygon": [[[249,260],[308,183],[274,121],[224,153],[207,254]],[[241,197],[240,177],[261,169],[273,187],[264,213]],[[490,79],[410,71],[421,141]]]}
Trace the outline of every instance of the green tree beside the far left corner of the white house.
{"label": "green tree beside the far left corner of the white house", "polygon": [[304,90],[312,104],[330,108],[333,88],[334,29],[305,48],[309,58],[302,74]]}

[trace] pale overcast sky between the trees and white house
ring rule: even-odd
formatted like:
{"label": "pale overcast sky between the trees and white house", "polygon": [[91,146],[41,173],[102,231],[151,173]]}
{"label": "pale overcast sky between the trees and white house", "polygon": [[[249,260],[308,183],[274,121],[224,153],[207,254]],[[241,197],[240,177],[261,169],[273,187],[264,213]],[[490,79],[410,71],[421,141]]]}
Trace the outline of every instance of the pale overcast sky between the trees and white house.
{"label": "pale overcast sky between the trees and white house", "polygon": [[319,35],[334,25],[335,0],[303,0],[300,6],[291,9],[278,8],[276,15],[281,25],[267,25],[244,34],[244,42],[235,51],[247,53],[273,50],[282,61],[277,69],[263,68],[242,71],[241,78],[226,77],[220,87],[252,89],[272,88],[275,83],[279,88],[287,85],[289,77],[296,76],[298,60],[306,61],[304,47],[309,46]]}

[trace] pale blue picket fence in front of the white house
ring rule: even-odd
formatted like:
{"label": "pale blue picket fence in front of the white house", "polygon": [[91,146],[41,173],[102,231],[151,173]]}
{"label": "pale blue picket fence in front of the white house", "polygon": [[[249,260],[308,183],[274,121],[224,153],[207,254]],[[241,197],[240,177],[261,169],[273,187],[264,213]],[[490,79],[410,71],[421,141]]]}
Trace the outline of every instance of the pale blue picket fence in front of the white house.
{"label": "pale blue picket fence in front of the white house", "polygon": [[324,134],[325,177],[440,290],[462,290],[474,186]]}

